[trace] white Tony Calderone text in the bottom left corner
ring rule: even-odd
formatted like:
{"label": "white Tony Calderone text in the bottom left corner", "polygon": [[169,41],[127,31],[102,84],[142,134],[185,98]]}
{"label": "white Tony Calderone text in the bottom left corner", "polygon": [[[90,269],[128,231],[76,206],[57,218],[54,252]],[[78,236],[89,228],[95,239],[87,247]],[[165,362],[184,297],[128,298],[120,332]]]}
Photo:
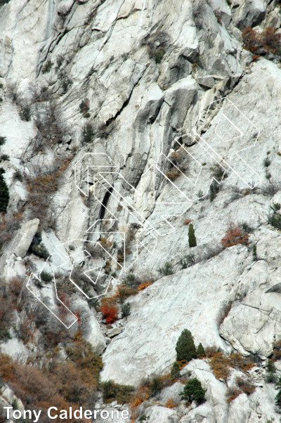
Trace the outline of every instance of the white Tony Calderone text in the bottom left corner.
{"label": "white Tony Calderone text in the bottom left corner", "polygon": [[[13,410],[13,407],[4,407],[6,410],[7,419],[30,419],[32,422],[39,422],[42,410]],[[98,417],[106,420],[109,417],[111,419],[129,419],[129,411],[127,410],[83,410],[81,407],[76,410],[72,410],[72,407],[68,410],[60,410],[56,407],[50,407],[47,410],[49,419],[97,419]]]}

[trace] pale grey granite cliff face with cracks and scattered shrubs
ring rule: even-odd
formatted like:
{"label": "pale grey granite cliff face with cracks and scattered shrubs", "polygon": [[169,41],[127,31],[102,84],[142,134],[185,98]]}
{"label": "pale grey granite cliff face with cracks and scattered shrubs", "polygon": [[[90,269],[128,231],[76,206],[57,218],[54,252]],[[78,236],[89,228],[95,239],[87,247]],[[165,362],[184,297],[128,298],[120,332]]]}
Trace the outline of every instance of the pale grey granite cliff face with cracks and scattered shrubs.
{"label": "pale grey granite cliff face with cracks and scattered shrubs", "polygon": [[[102,381],[138,386],[169,371],[188,328],[195,345],[240,353],[256,367],[232,369],[226,381],[207,358],[192,360],[182,377],[200,379],[207,401],[187,408],[176,382],[135,417],[278,421],[276,391],[264,375],[281,339],[280,25],[277,0],[0,6],[1,167],[9,190],[1,283],[20,280],[18,304],[27,305],[14,311],[2,352],[24,362],[44,355],[46,326],[59,332],[61,325],[53,313],[71,326],[70,338],[79,327],[102,354]],[[243,242],[223,245],[232,222]],[[164,266],[169,271],[159,271]],[[125,299],[131,313],[119,311],[110,327],[101,297],[84,294],[112,297],[122,281],[153,283]],[[39,300],[48,304],[40,306],[44,325],[30,318]],[[17,336],[22,325],[32,327],[32,342]],[[63,340],[56,343],[65,358]],[[256,389],[227,403],[235,377]]]}

